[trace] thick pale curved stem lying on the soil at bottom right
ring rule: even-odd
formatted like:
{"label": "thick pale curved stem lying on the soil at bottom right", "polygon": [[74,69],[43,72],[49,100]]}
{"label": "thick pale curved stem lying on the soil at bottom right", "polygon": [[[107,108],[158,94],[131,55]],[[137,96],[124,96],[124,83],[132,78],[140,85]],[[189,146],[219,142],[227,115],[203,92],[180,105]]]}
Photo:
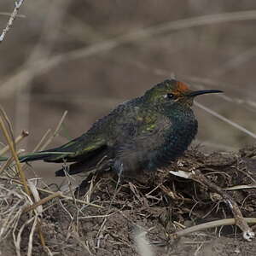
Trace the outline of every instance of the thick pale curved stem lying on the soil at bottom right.
{"label": "thick pale curved stem lying on the soil at bottom right", "polygon": [[[256,223],[256,218],[244,218],[244,220],[247,222],[247,224],[255,224]],[[214,221],[210,221],[210,222],[207,222],[204,224],[199,224],[199,225],[195,225],[193,227],[189,227],[185,230],[177,231],[176,233],[172,234],[171,237],[178,238],[181,236],[187,236],[190,233],[198,232],[201,230],[207,230],[207,229],[212,229],[212,228],[216,228],[219,226],[234,225],[234,224],[236,224],[235,218],[225,218],[225,219],[214,220]]]}

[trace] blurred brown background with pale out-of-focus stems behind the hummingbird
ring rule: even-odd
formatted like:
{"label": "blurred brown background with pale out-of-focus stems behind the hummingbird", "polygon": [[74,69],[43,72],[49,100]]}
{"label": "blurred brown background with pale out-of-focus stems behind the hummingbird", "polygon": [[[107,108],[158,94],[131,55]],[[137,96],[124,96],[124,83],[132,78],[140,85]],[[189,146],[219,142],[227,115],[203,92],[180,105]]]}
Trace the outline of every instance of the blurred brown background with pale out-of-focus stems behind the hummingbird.
{"label": "blurred brown background with pale out-of-focus stems behind the hummingbird", "polygon": [[[0,31],[14,1],[0,2]],[[256,2],[251,0],[25,1],[0,44],[0,103],[19,146],[32,151],[68,111],[49,147],[80,136],[120,102],[175,77],[197,98],[256,133]],[[195,106],[205,151],[236,151],[255,138]],[[4,140],[2,140],[4,141]],[[59,166],[34,163],[53,177]]]}

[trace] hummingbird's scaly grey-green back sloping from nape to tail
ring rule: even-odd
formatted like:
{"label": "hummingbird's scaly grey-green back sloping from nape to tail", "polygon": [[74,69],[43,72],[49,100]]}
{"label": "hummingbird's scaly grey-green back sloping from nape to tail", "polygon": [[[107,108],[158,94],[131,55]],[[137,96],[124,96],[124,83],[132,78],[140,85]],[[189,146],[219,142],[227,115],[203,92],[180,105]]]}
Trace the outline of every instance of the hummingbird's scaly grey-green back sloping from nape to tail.
{"label": "hummingbird's scaly grey-green back sloping from nape to tail", "polygon": [[49,157],[45,157],[44,160],[49,162],[86,160],[103,148],[108,150],[113,147],[118,140],[122,141],[125,139],[127,136],[127,134],[123,132],[125,125],[130,124],[131,126],[131,124],[134,123],[134,119],[136,119],[134,112],[137,111],[136,106],[139,106],[141,102],[142,98],[137,97],[129,102],[119,104],[119,106],[114,108],[108,115],[104,116],[102,119],[96,120],[90,129],[80,137],[73,139],[71,142],[61,147],[47,150],[60,154],[49,155]]}

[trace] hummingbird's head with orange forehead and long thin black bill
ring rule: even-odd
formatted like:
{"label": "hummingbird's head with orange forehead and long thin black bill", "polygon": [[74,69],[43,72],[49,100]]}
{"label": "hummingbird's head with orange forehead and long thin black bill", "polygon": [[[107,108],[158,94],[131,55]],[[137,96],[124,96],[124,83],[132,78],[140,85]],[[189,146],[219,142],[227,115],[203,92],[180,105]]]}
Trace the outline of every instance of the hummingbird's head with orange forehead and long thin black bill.
{"label": "hummingbird's head with orange forehead and long thin black bill", "polygon": [[218,93],[222,90],[190,90],[186,84],[175,79],[165,80],[160,84],[154,85],[153,88],[147,90],[144,98],[150,104],[162,105],[165,107],[173,104],[181,104],[191,107],[195,96]]}

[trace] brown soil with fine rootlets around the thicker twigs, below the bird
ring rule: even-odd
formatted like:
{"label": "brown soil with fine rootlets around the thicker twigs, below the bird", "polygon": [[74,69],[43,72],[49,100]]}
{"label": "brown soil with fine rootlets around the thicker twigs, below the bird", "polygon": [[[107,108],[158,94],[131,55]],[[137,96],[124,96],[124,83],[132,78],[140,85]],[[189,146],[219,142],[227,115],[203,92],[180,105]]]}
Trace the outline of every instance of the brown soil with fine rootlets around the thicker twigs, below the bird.
{"label": "brown soil with fine rootlets around the thicker twigs, below the bird", "polygon": [[[191,168],[196,168],[222,188],[255,184],[255,157],[256,147],[243,149],[239,154],[210,155],[194,148],[168,170],[191,172]],[[201,230],[174,239],[172,234],[182,227],[232,218],[233,215],[221,197],[206,186],[170,175],[168,170],[159,170],[156,174],[143,173],[136,177],[137,181],[123,178],[117,190],[116,179],[111,173],[104,177],[92,176],[87,188],[84,188],[86,194],[80,200],[93,202],[102,208],[63,199],[44,204],[41,224],[49,251],[56,255],[137,255],[136,244],[140,236],[136,234],[145,232],[147,247],[154,253],[152,255],[256,254],[256,242],[243,241],[241,231],[236,226]],[[10,209],[15,208],[17,202],[15,192],[10,195],[8,191],[16,191],[19,195],[20,192],[17,185],[9,183],[9,179],[1,179],[0,188],[3,207],[0,213],[3,213],[7,211],[7,204]],[[235,189],[228,193],[236,200],[244,217],[255,217],[256,189]],[[47,194],[41,194],[41,198],[45,196]],[[20,207],[15,208],[13,215]],[[6,215],[0,214],[2,223]],[[29,218],[32,215],[21,214],[15,219],[18,221],[15,229],[9,228],[8,231],[17,236],[21,225]],[[27,234],[31,229],[32,224],[26,224],[21,234],[21,255],[26,255]],[[12,240],[11,234],[2,240],[1,255],[14,255]],[[32,255],[42,253],[37,232],[32,242],[32,252]]]}

